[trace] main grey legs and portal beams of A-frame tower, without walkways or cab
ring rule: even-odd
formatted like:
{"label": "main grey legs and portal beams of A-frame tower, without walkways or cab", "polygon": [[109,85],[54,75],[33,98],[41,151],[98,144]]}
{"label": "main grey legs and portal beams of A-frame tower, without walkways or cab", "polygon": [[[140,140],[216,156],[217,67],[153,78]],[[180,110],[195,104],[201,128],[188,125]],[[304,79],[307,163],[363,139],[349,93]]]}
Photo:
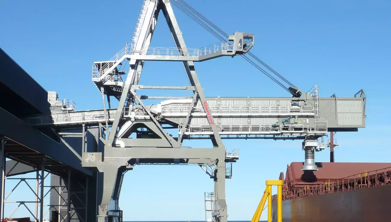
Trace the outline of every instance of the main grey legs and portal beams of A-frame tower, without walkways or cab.
{"label": "main grey legs and portal beams of A-frame tower, without walkways or cab", "polygon": [[[165,16],[165,19],[167,20],[167,24],[169,25],[170,32],[176,47],[181,48],[183,52],[185,52],[187,47],[174,16],[170,1],[150,0],[146,4],[146,19],[143,21],[141,28],[142,31],[138,37],[138,41],[135,42],[136,48],[149,47],[154,28],[156,26],[156,21],[161,10]],[[108,134],[108,138],[104,147],[104,154],[83,154],[84,167],[95,169],[103,173],[104,184],[102,191],[102,201],[99,206],[98,221],[104,222],[108,217],[120,217],[120,215],[117,213],[119,211],[118,197],[124,172],[126,172],[128,169],[132,169],[132,166],[135,163],[141,162],[192,163],[199,165],[206,164],[209,166],[215,165],[213,178],[216,196],[215,205],[217,207],[215,208],[214,215],[216,221],[226,222],[226,150],[222,144],[222,140],[213,121],[213,117],[211,115],[208,116],[208,123],[212,128],[212,135],[210,139],[212,140],[213,148],[181,148],[183,135],[180,135],[178,139],[174,139],[171,137],[171,135],[166,133],[162,128],[159,119],[151,114],[149,108],[143,104],[140,97],[136,94],[137,87],[134,86],[138,85],[138,80],[144,66],[144,61],[136,57],[132,58],[132,56],[130,56],[128,60],[130,65],[129,72],[127,73],[125,82],[120,84],[122,87],[120,91],[120,97],[116,96],[119,100],[119,105],[117,112],[115,112],[114,120],[111,124],[111,132]],[[191,88],[189,89],[193,90],[194,92],[192,107],[194,107],[194,105],[200,101],[203,104],[204,110],[208,112],[210,108],[206,101],[197,73],[195,72],[194,62],[191,60],[181,62],[183,63],[183,67],[190,82]],[[97,84],[102,86],[102,94],[109,93],[109,91],[104,89],[104,87],[109,86],[107,85],[108,82],[104,82],[107,79],[108,78],[105,77],[102,80],[103,82]],[[118,83],[115,83],[115,85],[118,85]],[[164,87],[162,87],[162,89],[164,89]],[[183,87],[178,87],[178,89],[183,89]],[[104,96],[102,96],[102,98],[104,100]],[[132,108],[134,102],[137,103],[139,107],[142,107],[143,112],[145,112],[145,115],[149,118],[145,120],[124,120],[123,117],[125,107]],[[186,123],[189,123],[191,119],[191,112],[192,108],[190,108],[188,111],[185,121]],[[146,135],[147,138],[136,139],[127,138],[127,136],[122,137],[122,135],[129,135],[130,133],[136,132],[135,130],[137,130],[138,127],[147,128],[149,132],[153,133],[153,135]],[[158,139],[152,139],[148,136],[156,137]]]}

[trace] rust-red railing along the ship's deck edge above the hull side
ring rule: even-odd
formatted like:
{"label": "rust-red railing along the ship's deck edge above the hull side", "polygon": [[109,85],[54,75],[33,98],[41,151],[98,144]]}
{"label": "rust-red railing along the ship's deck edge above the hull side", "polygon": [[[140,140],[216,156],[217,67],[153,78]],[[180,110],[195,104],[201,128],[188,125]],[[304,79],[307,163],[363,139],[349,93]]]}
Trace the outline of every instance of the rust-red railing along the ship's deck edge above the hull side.
{"label": "rust-red railing along the ship's deck edge above the hull side", "polygon": [[391,167],[379,170],[361,171],[358,174],[347,176],[341,179],[327,180],[317,185],[306,185],[301,188],[294,188],[291,191],[285,190],[284,199],[295,199],[300,197],[343,192],[367,188],[371,186],[382,186],[391,184]]}

